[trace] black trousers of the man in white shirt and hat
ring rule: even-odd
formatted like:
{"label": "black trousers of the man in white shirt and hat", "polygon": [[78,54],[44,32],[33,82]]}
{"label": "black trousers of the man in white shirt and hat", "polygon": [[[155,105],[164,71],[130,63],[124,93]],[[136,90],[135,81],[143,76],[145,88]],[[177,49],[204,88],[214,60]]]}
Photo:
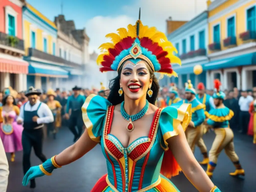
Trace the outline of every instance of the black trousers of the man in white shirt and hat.
{"label": "black trousers of the man in white shirt and hat", "polygon": [[24,175],[31,167],[30,164],[30,153],[32,147],[34,148],[35,155],[42,161],[45,162],[46,156],[42,153],[43,148],[43,129],[24,129],[22,132],[22,145],[23,145],[23,172]]}

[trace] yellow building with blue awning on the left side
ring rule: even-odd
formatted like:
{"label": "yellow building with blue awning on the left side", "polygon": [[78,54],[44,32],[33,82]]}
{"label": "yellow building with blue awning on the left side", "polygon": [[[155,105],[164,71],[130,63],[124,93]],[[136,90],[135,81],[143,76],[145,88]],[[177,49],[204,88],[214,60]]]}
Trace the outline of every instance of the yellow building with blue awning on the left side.
{"label": "yellow building with blue awning on the left side", "polygon": [[26,3],[23,7],[23,31],[26,56],[29,62],[27,87],[49,89],[49,78],[67,78],[63,59],[56,57],[57,27],[54,22]]}

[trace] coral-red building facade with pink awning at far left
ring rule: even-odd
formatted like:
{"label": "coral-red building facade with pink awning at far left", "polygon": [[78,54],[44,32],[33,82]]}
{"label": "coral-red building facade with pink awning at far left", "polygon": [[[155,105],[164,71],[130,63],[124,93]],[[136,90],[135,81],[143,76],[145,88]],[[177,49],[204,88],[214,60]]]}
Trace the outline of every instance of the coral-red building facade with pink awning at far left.
{"label": "coral-red building facade with pink awning at far left", "polygon": [[0,90],[11,86],[17,91],[26,89],[23,83],[28,62],[23,60],[24,41],[22,0],[0,1]]}

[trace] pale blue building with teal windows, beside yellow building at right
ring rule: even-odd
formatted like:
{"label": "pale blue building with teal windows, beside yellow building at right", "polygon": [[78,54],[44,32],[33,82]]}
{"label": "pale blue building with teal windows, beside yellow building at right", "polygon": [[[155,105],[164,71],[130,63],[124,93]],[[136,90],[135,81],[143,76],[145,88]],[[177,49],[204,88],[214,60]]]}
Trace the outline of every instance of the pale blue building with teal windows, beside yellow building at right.
{"label": "pale blue building with teal windows, beside yellow building at right", "polygon": [[182,66],[173,64],[173,70],[179,78],[171,78],[179,88],[183,88],[188,79],[192,84],[203,82],[206,84],[206,71],[200,75],[193,73],[195,65],[203,65],[208,62],[208,24],[207,11],[202,12],[189,22],[168,34],[167,38],[173,43],[182,61]]}

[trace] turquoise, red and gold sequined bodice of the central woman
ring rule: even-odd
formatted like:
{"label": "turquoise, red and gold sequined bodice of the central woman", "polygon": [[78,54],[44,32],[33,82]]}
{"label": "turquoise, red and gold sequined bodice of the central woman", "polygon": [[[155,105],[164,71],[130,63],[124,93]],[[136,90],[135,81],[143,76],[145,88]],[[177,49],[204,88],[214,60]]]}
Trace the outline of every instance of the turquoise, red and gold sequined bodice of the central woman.
{"label": "turquoise, red and gold sequined bodice of the central woman", "polygon": [[158,134],[161,110],[154,115],[148,137],[140,137],[125,148],[110,134],[114,106],[108,107],[101,147],[107,161],[108,184],[118,191],[147,191],[147,187],[150,189],[159,184],[164,154],[163,139]]}

